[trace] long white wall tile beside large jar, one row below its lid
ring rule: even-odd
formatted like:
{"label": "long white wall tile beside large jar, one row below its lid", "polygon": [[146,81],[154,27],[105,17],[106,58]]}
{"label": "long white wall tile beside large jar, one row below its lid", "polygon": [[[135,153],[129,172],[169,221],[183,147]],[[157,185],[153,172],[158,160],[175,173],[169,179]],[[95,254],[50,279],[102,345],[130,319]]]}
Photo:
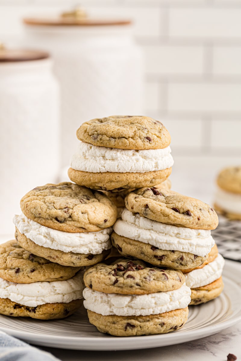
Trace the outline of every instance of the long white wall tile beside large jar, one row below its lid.
{"label": "long white wall tile beside large jar, one row below its lid", "polygon": [[146,74],[201,75],[204,53],[201,46],[153,45],[143,47]]}

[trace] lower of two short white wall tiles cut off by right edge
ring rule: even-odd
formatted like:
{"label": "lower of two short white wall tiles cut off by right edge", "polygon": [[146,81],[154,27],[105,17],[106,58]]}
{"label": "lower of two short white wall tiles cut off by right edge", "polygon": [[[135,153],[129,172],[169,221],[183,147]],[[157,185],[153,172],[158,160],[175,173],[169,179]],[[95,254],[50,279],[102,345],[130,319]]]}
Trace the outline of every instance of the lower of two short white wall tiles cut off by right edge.
{"label": "lower of two short white wall tiles cut off by right edge", "polygon": [[239,148],[237,156],[241,158],[241,121],[213,120],[211,144],[214,148]]}

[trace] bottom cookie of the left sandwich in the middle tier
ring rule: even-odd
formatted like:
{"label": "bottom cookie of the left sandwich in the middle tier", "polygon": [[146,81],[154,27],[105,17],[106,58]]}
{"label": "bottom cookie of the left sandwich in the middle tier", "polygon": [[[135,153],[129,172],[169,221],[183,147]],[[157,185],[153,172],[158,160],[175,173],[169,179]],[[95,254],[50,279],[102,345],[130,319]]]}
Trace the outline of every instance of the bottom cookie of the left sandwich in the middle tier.
{"label": "bottom cookie of the left sandwich in the middle tier", "polygon": [[43,247],[34,243],[31,239],[20,233],[18,229],[17,241],[22,248],[27,249],[29,252],[63,266],[82,267],[95,265],[96,263],[103,261],[109,255],[109,253],[111,253],[111,248],[104,250],[102,253],[97,255],[92,255],[92,253],[84,254],[63,252],[59,249]]}

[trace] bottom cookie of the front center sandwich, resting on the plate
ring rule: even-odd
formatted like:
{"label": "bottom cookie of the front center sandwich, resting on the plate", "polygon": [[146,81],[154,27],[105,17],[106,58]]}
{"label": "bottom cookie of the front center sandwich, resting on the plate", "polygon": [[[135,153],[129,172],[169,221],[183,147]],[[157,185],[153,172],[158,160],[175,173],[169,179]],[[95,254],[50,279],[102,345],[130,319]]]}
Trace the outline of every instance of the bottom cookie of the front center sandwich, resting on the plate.
{"label": "bottom cookie of the front center sandwich, resting on the plate", "polygon": [[87,310],[90,323],[113,336],[164,334],[180,329],[188,319],[188,307],[150,316],[102,316]]}

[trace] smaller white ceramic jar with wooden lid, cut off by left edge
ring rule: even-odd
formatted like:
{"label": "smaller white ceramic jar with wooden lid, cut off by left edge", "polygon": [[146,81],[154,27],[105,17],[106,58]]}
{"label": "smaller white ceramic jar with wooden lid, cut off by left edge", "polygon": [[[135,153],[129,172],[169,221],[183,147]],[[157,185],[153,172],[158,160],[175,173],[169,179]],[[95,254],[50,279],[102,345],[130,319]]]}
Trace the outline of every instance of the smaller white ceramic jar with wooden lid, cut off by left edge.
{"label": "smaller white ceramic jar with wooden lid, cut off by left edge", "polygon": [[46,53],[0,51],[0,233],[32,188],[59,170],[59,90]]}

